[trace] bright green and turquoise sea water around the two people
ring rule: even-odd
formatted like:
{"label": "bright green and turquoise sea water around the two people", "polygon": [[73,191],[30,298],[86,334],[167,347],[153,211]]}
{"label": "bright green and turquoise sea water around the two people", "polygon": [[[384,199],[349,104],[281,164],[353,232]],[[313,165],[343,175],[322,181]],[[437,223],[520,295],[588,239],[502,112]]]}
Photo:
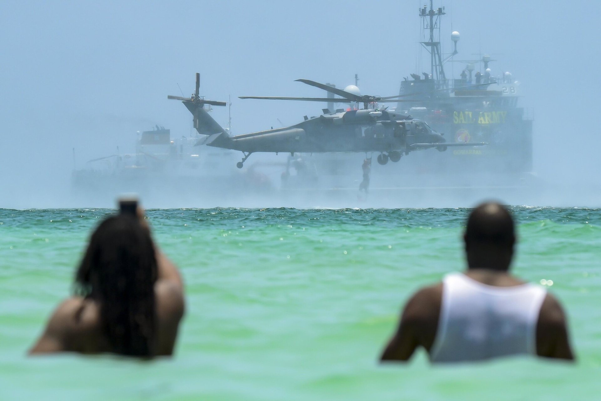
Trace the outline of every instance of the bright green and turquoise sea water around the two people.
{"label": "bright green and turquoise sea water around the two people", "polygon": [[513,207],[514,272],[563,302],[576,364],[377,364],[403,302],[463,269],[468,212],[148,210],[188,310],[174,358],[143,363],[26,357],[111,210],[0,209],[0,400],[600,399],[601,210]]}

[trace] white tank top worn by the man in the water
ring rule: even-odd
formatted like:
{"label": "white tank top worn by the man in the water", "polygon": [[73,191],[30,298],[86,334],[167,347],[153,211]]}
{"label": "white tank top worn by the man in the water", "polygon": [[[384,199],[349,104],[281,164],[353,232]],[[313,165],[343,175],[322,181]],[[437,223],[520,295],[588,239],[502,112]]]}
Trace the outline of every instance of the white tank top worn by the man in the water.
{"label": "white tank top worn by the man in the water", "polygon": [[445,276],[432,362],[479,361],[536,354],[536,325],[546,290],[495,287],[462,273]]}

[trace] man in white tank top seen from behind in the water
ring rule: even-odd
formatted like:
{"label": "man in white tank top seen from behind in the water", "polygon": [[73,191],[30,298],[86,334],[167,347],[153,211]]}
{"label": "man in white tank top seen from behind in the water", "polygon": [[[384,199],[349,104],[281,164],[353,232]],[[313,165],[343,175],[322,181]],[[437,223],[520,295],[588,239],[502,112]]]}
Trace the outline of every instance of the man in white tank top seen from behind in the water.
{"label": "man in white tank top seen from behind in the water", "polygon": [[559,302],[508,273],[516,241],[510,213],[481,204],[463,237],[468,270],[409,299],[381,360],[407,361],[418,346],[433,363],[519,354],[573,360]]}

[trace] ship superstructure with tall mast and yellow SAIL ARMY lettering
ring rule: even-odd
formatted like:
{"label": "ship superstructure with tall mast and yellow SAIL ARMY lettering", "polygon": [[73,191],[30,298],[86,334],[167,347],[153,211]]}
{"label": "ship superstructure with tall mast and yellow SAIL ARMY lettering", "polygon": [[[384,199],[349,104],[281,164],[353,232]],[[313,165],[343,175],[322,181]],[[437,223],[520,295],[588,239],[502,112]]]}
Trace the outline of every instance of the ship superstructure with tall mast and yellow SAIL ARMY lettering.
{"label": "ship superstructure with tall mast and yellow SAIL ARMY lettering", "polygon": [[[430,54],[430,72],[412,73],[403,78],[399,94],[410,102],[399,102],[397,110],[426,121],[447,142],[487,142],[478,149],[454,149],[424,165],[415,155],[411,165],[421,171],[455,173],[530,173],[532,171],[532,109],[518,105],[519,82],[509,72],[493,73],[490,55],[477,60],[453,60],[459,32],[451,34],[453,52],[441,52],[443,7],[419,9],[422,20],[421,45]],[[446,56],[446,57],[445,57]],[[445,64],[461,63],[457,77],[447,78]]]}

